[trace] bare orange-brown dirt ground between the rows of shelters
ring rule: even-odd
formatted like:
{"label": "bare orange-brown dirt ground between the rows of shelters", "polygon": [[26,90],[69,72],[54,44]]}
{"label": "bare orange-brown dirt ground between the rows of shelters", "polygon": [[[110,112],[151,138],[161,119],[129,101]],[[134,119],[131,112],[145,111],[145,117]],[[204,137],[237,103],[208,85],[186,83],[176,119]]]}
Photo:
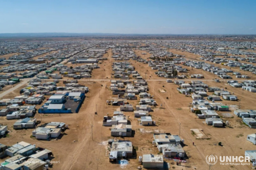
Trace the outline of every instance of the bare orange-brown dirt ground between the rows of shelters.
{"label": "bare orange-brown dirt ground between the rows of shelters", "polygon": [[[141,55],[142,51],[136,51],[136,54],[142,58],[147,58],[150,54]],[[178,54],[178,51],[174,51]],[[188,54],[186,54],[188,55]],[[111,79],[112,62],[115,62],[109,51],[106,56],[108,60],[99,64],[100,68],[94,69],[92,72],[92,79]],[[190,57],[190,56],[188,56]],[[195,57],[195,56],[194,56]],[[191,56],[193,58],[193,56]],[[194,58],[195,59],[195,58]],[[130,62],[135,66],[136,70],[140,72],[141,76],[146,80],[162,79],[155,75],[155,70],[152,70],[147,64],[138,63],[134,60]],[[189,74],[200,73],[201,70],[189,69]],[[202,73],[205,79],[214,79],[214,75]],[[196,80],[196,79],[195,79]],[[186,81],[186,80],[185,80]],[[8,125],[8,137],[1,138],[3,144],[12,145],[17,141],[26,141],[36,144],[38,147],[46,148],[53,151],[54,159],[59,160],[60,163],[54,164],[52,169],[121,169],[119,164],[112,164],[106,156],[106,141],[113,137],[110,136],[110,127],[103,127],[102,120],[106,113],[110,115],[113,111],[118,109],[118,106],[106,105],[106,100],[112,97],[112,92],[108,88],[110,81],[79,81],[80,84],[89,87],[90,92],[86,94],[86,99],[79,113],[73,114],[36,114],[35,117],[42,123],[47,122],[64,122],[69,124],[69,128],[65,134],[57,140],[44,141],[35,140],[31,138],[33,129],[27,130],[13,130],[12,125],[16,120],[6,120],[5,117],[0,117],[1,123]],[[227,87],[227,90],[234,92],[241,100],[241,109],[256,109],[254,103],[256,102],[255,94],[242,91],[241,88],[234,88],[227,85],[225,82],[216,83],[208,81],[209,86]],[[61,83],[59,84],[61,85]],[[144,127],[139,126],[137,118],[133,117],[133,112],[125,112],[125,115],[130,115],[130,121],[135,130],[134,137],[125,137],[125,140],[131,140],[136,149],[136,159],[130,159],[130,164],[125,166],[125,169],[136,169],[140,164],[138,157],[143,154],[158,154],[158,150],[153,146],[153,133],[155,132],[170,132],[177,134],[185,140],[185,147],[183,148],[189,156],[188,163],[182,163],[182,166],[171,164],[175,169],[208,169],[209,166],[205,162],[207,155],[244,155],[245,150],[255,150],[255,146],[246,141],[246,136],[255,131],[249,129],[241,123],[241,118],[237,118],[231,113],[232,117],[223,117],[224,122],[229,120],[230,128],[214,128],[207,126],[204,119],[198,119],[194,113],[189,112],[189,103],[192,99],[183,94],[178,93],[177,85],[173,83],[166,83],[165,81],[148,81],[150,93],[154,95],[158,106],[151,112],[153,120],[156,121],[157,126]],[[164,86],[164,87],[163,87]],[[159,89],[166,90],[166,93],[160,93]],[[5,98],[16,96],[18,93],[14,91],[8,94]],[[210,94],[210,93],[209,93]],[[168,100],[166,99],[168,97]],[[135,106],[139,101],[129,101]],[[223,101],[227,105],[239,105],[238,102]],[[163,104],[164,108],[160,107]],[[38,106],[39,107],[39,106]],[[98,114],[94,112],[97,110]],[[222,112],[218,112],[222,116]],[[42,117],[42,118],[41,118]],[[196,136],[191,134],[190,129],[203,129],[203,132],[210,136],[209,140],[198,140]],[[228,137],[227,137],[228,136]],[[195,146],[193,146],[193,141]],[[218,142],[222,142],[223,147],[218,146]],[[217,144],[217,145],[216,145]],[[172,163],[172,161],[166,160]],[[172,168],[171,168],[172,169]],[[173,168],[174,169],[174,168]],[[211,169],[249,169],[249,166],[235,166],[229,165],[214,165]]]}

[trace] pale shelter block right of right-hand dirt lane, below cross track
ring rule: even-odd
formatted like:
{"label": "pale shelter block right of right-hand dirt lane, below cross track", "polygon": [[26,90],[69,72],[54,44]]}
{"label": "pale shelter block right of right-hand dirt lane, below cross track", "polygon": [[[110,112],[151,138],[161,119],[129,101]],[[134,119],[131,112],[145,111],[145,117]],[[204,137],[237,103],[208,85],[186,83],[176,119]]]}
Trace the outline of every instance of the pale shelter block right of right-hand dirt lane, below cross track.
{"label": "pale shelter block right of right-hand dirt lane, below cross track", "polygon": [[[214,127],[223,127],[224,125],[223,120],[216,111],[229,111],[229,106],[217,102],[221,101],[221,96],[223,100],[238,100],[236,95],[218,87],[208,87],[202,81],[191,81],[191,83],[175,81],[174,83],[180,86],[177,88],[180,93],[186,96],[191,94],[193,102],[191,103],[190,111],[195,112],[198,118],[205,119],[207,125]],[[214,94],[207,95],[207,92],[214,92]]]}

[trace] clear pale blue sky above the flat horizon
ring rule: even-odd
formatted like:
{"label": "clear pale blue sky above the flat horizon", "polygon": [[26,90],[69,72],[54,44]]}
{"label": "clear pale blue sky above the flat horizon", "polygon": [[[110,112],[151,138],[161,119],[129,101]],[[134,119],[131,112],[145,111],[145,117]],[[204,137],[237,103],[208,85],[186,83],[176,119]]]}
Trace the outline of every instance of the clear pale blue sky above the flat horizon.
{"label": "clear pale blue sky above the flat horizon", "polygon": [[0,0],[0,33],[256,34],[255,0]]}

